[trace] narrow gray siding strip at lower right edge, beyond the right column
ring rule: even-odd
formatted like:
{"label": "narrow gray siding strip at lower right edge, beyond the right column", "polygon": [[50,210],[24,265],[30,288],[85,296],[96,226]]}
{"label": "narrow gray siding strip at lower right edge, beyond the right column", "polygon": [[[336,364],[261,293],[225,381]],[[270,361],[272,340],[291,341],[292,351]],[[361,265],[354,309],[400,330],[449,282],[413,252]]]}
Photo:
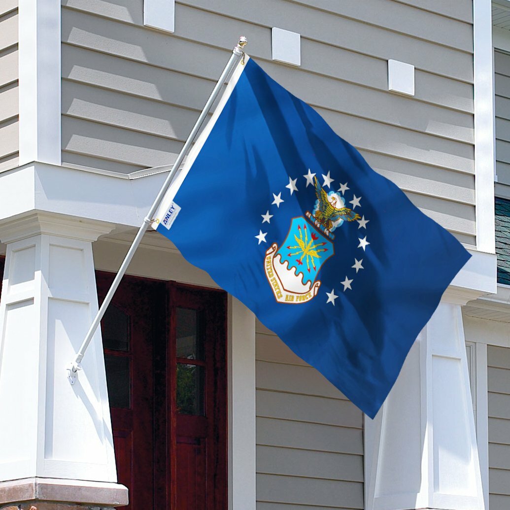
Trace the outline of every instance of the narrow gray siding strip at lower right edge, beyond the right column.
{"label": "narrow gray siding strip at lower right edge, beyond the right column", "polygon": [[490,509],[510,506],[510,348],[487,346]]}

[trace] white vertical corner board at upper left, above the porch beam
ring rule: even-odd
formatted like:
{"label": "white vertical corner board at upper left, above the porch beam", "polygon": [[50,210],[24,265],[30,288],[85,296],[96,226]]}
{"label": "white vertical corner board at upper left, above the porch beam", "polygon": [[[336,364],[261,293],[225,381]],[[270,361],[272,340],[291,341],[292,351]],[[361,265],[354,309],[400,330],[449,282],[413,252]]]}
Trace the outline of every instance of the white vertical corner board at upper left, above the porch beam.
{"label": "white vertical corner board at upper left, above the porch beam", "polygon": [[19,165],[62,161],[61,9],[19,0]]}

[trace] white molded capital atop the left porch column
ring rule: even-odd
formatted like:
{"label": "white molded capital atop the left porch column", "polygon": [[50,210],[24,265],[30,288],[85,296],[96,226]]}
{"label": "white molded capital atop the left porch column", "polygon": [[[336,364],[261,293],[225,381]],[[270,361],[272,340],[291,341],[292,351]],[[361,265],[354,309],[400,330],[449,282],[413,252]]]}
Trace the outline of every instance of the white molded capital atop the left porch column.
{"label": "white molded capital atop the left porch column", "polygon": [[114,230],[113,223],[43,211],[33,211],[0,222],[0,240],[11,243],[39,234],[96,241]]}

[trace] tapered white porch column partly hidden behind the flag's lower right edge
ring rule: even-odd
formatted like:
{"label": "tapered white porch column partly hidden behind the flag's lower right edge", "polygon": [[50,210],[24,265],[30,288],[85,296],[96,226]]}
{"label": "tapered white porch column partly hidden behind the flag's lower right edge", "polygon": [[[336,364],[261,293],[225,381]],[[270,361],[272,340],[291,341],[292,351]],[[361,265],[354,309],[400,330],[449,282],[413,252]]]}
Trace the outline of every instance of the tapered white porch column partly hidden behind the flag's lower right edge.
{"label": "tapered white porch column partly hidden behind the flag's lower right edge", "polygon": [[483,510],[461,312],[474,297],[445,293],[384,406],[366,418],[367,510]]}

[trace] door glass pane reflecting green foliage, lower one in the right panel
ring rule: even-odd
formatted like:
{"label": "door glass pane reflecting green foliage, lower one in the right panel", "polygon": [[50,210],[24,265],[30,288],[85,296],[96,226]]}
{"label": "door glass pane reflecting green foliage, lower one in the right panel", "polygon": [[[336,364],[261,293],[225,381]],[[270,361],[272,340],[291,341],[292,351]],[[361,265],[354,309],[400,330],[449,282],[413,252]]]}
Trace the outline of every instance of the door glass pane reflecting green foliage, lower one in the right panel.
{"label": "door glass pane reflecting green foliage, lower one in the right panel", "polygon": [[177,363],[177,412],[203,416],[203,367]]}

